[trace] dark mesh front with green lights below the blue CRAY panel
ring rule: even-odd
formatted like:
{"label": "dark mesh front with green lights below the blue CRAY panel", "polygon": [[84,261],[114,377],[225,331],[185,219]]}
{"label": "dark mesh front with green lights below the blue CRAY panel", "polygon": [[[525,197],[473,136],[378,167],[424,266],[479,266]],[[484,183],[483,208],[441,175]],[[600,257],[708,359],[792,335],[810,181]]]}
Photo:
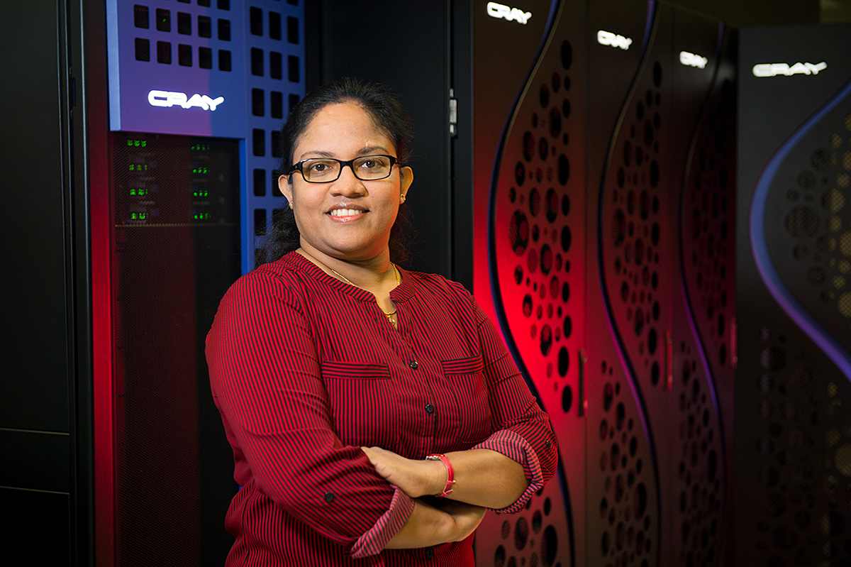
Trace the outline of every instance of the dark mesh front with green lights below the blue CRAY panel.
{"label": "dark mesh front with green lights below the blue CRAY panel", "polygon": [[112,140],[116,564],[222,564],[237,486],[204,339],[239,276],[237,142]]}

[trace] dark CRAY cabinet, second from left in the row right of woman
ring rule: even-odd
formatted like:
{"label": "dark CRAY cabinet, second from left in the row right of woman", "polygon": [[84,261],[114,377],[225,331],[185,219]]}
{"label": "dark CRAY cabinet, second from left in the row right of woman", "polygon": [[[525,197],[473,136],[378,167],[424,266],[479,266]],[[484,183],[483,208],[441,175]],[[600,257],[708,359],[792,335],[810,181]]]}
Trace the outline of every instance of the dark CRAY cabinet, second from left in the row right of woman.
{"label": "dark CRAY cabinet, second from left in the row right of woman", "polygon": [[[641,3],[617,15],[613,7],[592,5],[589,14],[590,65],[614,80],[589,76],[589,116],[605,118],[586,134],[588,563],[656,565],[665,545],[657,438],[665,430],[650,412],[664,407],[654,394],[664,387],[671,308],[672,124],[663,121],[671,85],[668,60],[653,49],[665,45],[655,37],[659,14]],[[617,36],[625,39],[611,41]]]}

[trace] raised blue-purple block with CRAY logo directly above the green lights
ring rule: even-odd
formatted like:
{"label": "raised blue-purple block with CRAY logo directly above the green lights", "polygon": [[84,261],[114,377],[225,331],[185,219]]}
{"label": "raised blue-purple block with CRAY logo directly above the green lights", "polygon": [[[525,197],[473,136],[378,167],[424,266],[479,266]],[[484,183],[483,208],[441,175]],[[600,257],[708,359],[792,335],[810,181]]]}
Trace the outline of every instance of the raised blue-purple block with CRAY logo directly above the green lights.
{"label": "raised blue-purple block with CRAY logo directly above the green lights", "polygon": [[244,11],[209,4],[107,3],[110,129],[245,137]]}

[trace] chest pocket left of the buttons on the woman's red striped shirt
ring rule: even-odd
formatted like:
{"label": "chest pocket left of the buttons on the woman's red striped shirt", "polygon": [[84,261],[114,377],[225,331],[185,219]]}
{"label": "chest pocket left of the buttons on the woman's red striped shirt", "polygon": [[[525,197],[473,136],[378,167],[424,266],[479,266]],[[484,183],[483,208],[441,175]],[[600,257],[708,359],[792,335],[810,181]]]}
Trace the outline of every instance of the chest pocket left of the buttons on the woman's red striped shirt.
{"label": "chest pocket left of the buttons on the woman's red striped shirt", "polygon": [[394,450],[397,398],[386,364],[323,362],[334,429],[343,444]]}

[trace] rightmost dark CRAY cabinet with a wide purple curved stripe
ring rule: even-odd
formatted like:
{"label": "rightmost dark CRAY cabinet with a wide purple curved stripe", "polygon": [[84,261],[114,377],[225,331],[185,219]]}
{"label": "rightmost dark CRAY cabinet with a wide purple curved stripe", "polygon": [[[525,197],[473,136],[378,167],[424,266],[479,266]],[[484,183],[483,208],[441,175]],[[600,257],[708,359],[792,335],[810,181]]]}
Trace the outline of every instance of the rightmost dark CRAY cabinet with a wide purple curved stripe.
{"label": "rightmost dark CRAY cabinet with a wide purple curved stripe", "polygon": [[848,37],[740,31],[737,564],[851,562]]}

